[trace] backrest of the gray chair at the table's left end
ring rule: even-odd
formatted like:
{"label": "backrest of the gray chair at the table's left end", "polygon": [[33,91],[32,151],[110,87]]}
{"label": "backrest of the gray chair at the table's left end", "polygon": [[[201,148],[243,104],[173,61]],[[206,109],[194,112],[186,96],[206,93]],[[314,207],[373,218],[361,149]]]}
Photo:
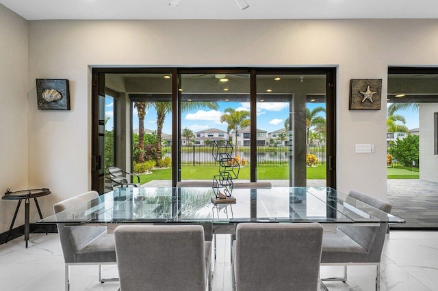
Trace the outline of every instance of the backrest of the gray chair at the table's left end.
{"label": "backrest of the gray chair at the table's left end", "polygon": [[[53,205],[55,214],[83,204],[90,202],[90,200],[99,197],[96,191],[82,193],[75,197],[68,198],[62,202]],[[92,203],[92,202],[90,202]],[[63,223],[57,223],[57,231],[60,234],[60,241],[62,253],[64,253],[64,261],[66,263],[78,262],[77,253],[91,240],[106,232],[105,226],[66,226]]]}

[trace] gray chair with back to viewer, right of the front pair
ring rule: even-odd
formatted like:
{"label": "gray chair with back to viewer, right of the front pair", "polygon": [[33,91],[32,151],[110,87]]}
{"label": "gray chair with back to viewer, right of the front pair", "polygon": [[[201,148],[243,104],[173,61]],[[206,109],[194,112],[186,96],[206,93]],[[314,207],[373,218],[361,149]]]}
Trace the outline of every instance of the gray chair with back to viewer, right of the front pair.
{"label": "gray chair with back to viewer, right of the front pair", "polygon": [[240,223],[232,247],[237,290],[318,290],[319,223]]}

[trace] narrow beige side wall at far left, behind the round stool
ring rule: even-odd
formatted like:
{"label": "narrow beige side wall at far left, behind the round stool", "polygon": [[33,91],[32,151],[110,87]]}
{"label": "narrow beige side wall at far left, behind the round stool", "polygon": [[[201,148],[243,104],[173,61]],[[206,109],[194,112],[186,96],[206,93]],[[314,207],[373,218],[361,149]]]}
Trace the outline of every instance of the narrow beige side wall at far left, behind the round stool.
{"label": "narrow beige side wall at far left, behind the round stool", "polygon": [[[27,189],[27,21],[0,5],[0,195]],[[36,104],[36,100],[35,100]],[[0,233],[17,202],[0,200]],[[16,226],[24,223],[24,205]]]}

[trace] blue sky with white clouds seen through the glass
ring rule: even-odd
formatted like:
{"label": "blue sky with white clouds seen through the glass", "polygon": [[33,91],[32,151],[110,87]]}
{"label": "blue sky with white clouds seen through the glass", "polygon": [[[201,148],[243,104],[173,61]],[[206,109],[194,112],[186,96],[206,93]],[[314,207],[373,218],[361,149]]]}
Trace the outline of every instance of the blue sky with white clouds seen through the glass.
{"label": "blue sky with white clouds seen through the glass", "polygon": [[[224,113],[226,108],[234,108],[235,110],[248,110],[249,102],[219,102],[218,110],[212,109],[196,109],[185,112],[182,115],[181,128],[190,128],[194,133],[205,130],[207,128],[218,128],[227,131],[227,124],[220,123],[220,115]],[[308,103],[310,110],[318,106],[324,106],[322,103]],[[114,120],[114,102],[112,98],[105,98],[105,116],[110,117],[110,120],[105,124],[107,130],[112,130]],[[257,128],[266,130],[268,133],[284,128],[285,118],[288,116],[289,105],[287,102],[258,102],[257,103]],[[403,115],[406,120],[406,126],[409,129],[417,128],[418,113],[415,111],[404,110],[397,111],[397,114]],[[324,113],[321,113],[325,117]],[[150,130],[157,129],[157,113],[151,108],[146,112],[144,117],[144,127]],[[133,129],[138,129],[137,110],[133,108]],[[166,115],[163,132],[172,133],[172,115]]]}

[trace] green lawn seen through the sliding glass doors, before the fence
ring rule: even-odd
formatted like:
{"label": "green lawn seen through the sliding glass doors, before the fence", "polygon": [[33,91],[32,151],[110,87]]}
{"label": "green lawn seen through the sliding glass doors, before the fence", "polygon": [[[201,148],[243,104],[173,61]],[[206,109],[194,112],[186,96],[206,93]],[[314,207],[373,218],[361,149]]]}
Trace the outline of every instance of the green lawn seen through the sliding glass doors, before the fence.
{"label": "green lawn seen through the sliding glass doors, before the fence", "polygon": [[[218,175],[219,167],[216,166],[183,166],[181,167],[181,180],[209,180]],[[307,167],[307,179],[325,179],[326,167]],[[140,175],[140,183],[144,184],[151,180],[172,179],[172,169],[153,169],[152,174]],[[259,166],[257,175],[261,180],[289,180],[289,167],[287,166]],[[250,179],[250,167],[242,167],[239,179]]]}

